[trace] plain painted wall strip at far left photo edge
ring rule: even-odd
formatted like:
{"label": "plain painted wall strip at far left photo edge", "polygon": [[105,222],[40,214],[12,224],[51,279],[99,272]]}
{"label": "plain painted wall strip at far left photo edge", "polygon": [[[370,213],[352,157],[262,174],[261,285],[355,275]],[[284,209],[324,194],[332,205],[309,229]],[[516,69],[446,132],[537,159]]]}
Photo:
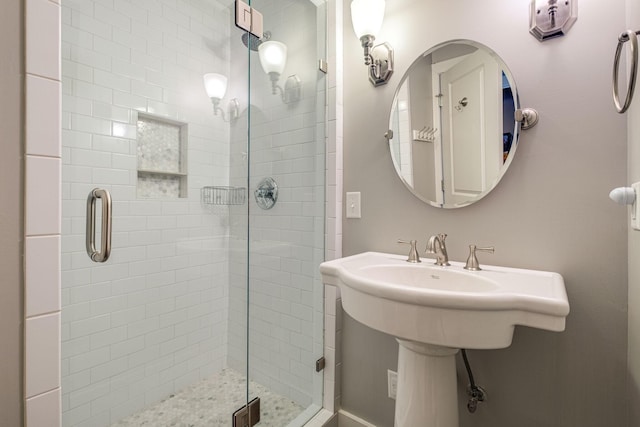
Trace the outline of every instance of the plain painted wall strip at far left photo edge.
{"label": "plain painted wall strip at far left photo edge", "polygon": [[23,2],[0,16],[0,424],[22,425]]}

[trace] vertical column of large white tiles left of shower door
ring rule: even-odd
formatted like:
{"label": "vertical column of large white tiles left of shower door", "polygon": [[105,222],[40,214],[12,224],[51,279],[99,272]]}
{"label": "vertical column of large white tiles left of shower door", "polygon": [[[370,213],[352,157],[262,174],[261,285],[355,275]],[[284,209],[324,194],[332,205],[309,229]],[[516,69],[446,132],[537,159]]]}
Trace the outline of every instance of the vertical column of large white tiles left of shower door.
{"label": "vertical column of large white tiles left of shower door", "polygon": [[25,4],[25,424],[58,427],[60,4],[49,0],[27,0]]}

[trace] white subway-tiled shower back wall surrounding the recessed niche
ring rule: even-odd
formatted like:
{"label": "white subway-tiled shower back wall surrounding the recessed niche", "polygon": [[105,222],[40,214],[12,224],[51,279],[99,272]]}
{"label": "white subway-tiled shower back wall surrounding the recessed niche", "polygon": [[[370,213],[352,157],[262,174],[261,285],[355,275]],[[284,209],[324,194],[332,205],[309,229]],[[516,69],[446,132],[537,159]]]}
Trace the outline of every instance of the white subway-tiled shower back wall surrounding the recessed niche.
{"label": "white subway-tiled shower back wall surrounding the recessed niche", "polygon": [[[65,426],[109,425],[226,366],[228,212],[200,188],[229,181],[202,75],[229,75],[230,20],[215,1],[62,4]],[[138,197],[138,112],[189,124],[186,198]],[[95,187],[113,198],[104,265],[85,252]]]}

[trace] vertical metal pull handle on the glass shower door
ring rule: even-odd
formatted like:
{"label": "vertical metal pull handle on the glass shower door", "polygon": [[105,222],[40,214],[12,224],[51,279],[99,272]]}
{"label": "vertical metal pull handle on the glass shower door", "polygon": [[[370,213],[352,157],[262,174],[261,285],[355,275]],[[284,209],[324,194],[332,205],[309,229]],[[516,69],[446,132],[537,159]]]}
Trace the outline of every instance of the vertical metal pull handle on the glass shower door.
{"label": "vertical metal pull handle on the glass shower door", "polygon": [[[96,202],[102,199],[102,241],[96,249]],[[87,255],[95,262],[105,262],[111,254],[111,194],[107,190],[94,188],[87,197]]]}

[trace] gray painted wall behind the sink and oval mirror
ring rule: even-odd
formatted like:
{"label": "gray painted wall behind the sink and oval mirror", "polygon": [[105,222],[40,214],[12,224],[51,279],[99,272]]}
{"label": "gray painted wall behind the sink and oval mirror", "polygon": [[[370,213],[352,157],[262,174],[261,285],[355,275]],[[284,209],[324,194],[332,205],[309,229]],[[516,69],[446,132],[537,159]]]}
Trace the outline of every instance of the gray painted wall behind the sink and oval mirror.
{"label": "gray painted wall behind the sink and oval mirror", "polygon": [[[611,101],[611,64],[625,2],[581,2],[566,37],[528,33],[528,2],[393,0],[379,41],[395,48],[396,74],[373,88],[344,3],[344,191],[362,192],[362,219],[345,219],[344,255],[404,253],[396,239],[449,234],[449,255],[494,245],[481,263],[557,271],[571,314],[566,331],[516,328],[508,349],[471,351],[489,401],[475,415],[460,402],[461,426],[627,424],[627,226],[608,199],[626,181],[625,117]],[[383,138],[395,85],[413,59],[448,39],[475,39],[509,66],[521,100],[541,114],[510,170],[478,203],[438,210],[395,176]],[[640,172],[639,172],[640,173]],[[638,245],[640,246],[640,244]],[[342,406],[378,426],[393,425],[386,370],[397,367],[390,336],[346,317]],[[467,380],[458,366],[459,389]],[[464,396],[460,396],[461,399]]]}

